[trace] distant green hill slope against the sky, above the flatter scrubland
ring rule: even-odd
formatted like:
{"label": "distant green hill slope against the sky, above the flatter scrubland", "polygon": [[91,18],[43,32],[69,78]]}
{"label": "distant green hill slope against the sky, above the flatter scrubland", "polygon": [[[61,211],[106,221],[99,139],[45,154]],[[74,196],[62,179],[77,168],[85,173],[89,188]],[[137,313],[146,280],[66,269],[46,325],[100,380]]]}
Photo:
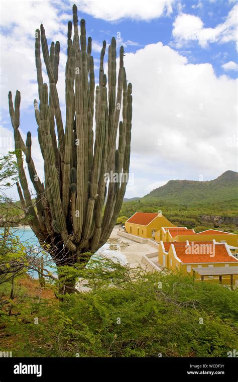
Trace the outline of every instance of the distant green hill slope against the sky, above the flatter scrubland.
{"label": "distant green hill slope against the sky, above the flatter scrubland", "polygon": [[200,205],[238,200],[238,173],[225,171],[209,181],[169,180],[141,198],[142,202],[160,201],[178,205]]}

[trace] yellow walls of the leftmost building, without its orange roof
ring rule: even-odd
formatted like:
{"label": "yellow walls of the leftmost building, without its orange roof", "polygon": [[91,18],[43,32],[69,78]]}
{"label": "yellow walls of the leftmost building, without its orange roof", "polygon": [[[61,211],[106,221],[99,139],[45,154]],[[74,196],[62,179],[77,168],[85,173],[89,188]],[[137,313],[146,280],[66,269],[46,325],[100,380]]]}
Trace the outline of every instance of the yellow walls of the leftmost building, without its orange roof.
{"label": "yellow walls of the leftmost building, without its orange roof", "polygon": [[[125,228],[127,233],[131,233],[135,236],[140,236],[144,238],[152,238],[152,230],[158,231],[161,229],[161,227],[175,227],[168,219],[166,219],[163,215],[157,216],[151,223],[149,223],[147,226],[143,226],[141,224],[136,223],[125,223]],[[139,233],[138,233],[139,229]],[[143,233],[142,233],[143,231]]]}

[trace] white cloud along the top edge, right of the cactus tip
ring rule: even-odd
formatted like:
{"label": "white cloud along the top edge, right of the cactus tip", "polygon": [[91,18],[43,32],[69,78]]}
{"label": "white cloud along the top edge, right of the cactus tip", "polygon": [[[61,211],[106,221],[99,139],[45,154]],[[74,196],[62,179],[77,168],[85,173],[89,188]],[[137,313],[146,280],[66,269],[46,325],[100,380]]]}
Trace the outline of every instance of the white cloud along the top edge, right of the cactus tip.
{"label": "white cloud along the top edge, right of the cactus tip", "polygon": [[152,20],[164,15],[170,15],[173,11],[174,0],[149,1],[144,0],[82,0],[78,2],[79,11],[87,13],[95,18],[106,21],[116,21],[123,18],[135,20]]}

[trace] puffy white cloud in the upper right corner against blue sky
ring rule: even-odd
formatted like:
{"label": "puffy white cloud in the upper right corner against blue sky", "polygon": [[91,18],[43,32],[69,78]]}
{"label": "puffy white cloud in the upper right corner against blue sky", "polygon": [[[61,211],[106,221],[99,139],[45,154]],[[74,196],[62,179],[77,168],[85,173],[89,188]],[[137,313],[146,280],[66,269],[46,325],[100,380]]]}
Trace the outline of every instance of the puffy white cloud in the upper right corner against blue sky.
{"label": "puffy white cloud in the upper right corner against blue sky", "polygon": [[202,48],[209,43],[226,43],[234,41],[237,43],[237,12],[235,5],[229,12],[225,21],[215,28],[204,28],[202,20],[198,16],[180,14],[173,23],[173,37],[177,47],[182,47],[189,41],[197,40]]}

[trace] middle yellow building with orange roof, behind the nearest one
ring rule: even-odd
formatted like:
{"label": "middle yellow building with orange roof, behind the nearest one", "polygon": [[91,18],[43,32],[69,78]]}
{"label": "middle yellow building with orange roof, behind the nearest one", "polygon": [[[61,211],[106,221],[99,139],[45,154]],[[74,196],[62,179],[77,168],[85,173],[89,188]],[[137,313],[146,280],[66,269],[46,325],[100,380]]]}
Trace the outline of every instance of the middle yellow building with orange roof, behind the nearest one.
{"label": "middle yellow building with orange roof, behind the nearest one", "polygon": [[217,230],[206,230],[196,233],[193,229],[187,229],[186,227],[162,227],[155,234],[155,239],[159,242],[163,240],[165,242],[176,241],[183,242],[189,241],[211,241],[215,240],[219,243],[227,243],[231,247],[237,247],[238,235],[234,233],[217,231]]}

